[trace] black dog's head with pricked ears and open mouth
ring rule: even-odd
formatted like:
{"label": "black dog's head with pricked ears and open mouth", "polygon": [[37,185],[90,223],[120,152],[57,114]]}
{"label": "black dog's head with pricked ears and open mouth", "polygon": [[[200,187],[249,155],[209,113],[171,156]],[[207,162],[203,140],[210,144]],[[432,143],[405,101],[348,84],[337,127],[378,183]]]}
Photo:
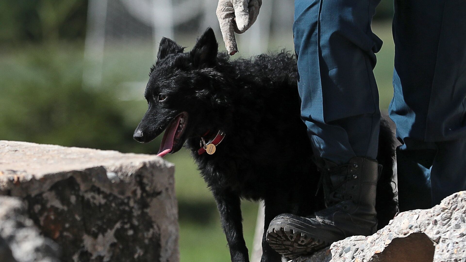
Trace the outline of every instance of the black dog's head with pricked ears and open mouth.
{"label": "black dog's head with pricked ears and open mouth", "polygon": [[160,41],[144,93],[148,109],[133,135],[148,143],[165,130],[159,156],[177,152],[187,138],[206,132],[206,114],[222,101],[215,90],[222,76],[216,69],[218,43],[213,30],[208,28],[190,52],[183,51],[168,38]]}

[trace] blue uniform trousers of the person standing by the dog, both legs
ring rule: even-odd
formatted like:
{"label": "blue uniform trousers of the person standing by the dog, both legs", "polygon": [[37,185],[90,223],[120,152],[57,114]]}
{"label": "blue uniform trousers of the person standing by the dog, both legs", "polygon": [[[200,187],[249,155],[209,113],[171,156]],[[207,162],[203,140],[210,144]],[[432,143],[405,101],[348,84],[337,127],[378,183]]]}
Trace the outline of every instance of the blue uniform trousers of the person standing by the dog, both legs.
{"label": "blue uniform trousers of the person standing by the dog, both legs", "polygon": [[[317,156],[337,164],[377,156],[380,111],[372,69],[382,41],[379,0],[295,0],[302,119]],[[395,0],[400,209],[466,190],[466,1]]]}

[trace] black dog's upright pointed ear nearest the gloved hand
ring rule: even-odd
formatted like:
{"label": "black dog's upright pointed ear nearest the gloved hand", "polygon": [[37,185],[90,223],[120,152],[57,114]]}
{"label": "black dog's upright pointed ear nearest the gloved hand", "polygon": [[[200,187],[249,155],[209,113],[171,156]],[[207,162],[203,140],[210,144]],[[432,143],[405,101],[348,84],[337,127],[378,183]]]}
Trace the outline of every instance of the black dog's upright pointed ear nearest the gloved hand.
{"label": "black dog's upright pointed ear nearest the gloved hand", "polygon": [[191,50],[193,63],[197,67],[213,66],[218,52],[219,43],[215,39],[215,34],[212,28],[207,28]]}

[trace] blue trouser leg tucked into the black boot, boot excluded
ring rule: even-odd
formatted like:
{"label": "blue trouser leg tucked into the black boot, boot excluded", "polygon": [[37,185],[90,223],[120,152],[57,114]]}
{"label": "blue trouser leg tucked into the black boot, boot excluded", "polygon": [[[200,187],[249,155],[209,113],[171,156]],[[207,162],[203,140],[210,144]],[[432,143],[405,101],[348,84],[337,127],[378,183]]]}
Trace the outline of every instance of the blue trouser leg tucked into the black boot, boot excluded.
{"label": "blue trouser leg tucked into the black boot, boot excluded", "polygon": [[380,125],[372,72],[382,41],[370,23],[379,0],[295,0],[302,119],[316,156],[375,159]]}

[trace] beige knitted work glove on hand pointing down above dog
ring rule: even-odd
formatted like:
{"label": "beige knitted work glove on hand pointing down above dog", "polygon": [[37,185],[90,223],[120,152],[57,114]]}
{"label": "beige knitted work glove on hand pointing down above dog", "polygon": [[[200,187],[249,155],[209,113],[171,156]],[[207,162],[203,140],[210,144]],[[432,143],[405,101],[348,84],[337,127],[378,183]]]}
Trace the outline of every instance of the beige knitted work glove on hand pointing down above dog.
{"label": "beige knitted work glove on hand pointing down above dog", "polygon": [[262,0],[219,0],[217,18],[230,55],[238,52],[234,33],[242,34],[254,24],[261,5]]}

